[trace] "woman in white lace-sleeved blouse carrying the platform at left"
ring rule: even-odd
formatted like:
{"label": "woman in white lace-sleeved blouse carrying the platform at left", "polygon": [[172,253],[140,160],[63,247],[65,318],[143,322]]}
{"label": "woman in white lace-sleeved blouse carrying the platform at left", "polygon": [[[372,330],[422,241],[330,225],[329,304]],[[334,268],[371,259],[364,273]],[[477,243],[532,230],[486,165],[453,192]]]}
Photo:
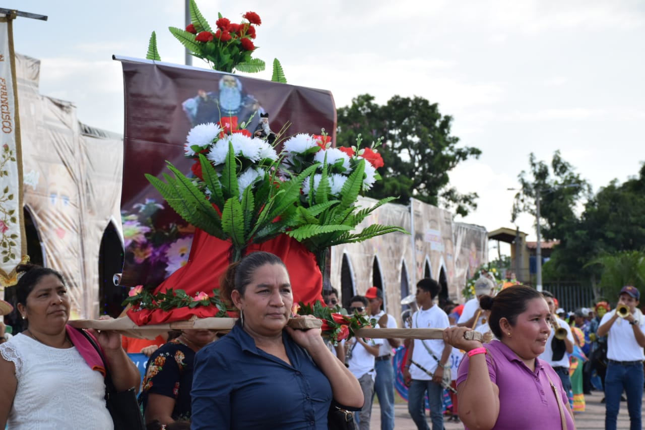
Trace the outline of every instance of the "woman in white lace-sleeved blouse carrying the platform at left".
{"label": "woman in white lace-sleeved blouse carrying the platform at left", "polygon": [[[63,276],[35,265],[17,271],[12,288],[28,329],[0,345],[0,428],[114,429],[97,371],[102,363],[90,367],[68,335],[70,298]],[[121,336],[103,331],[97,340],[117,391],[138,387],[139,371],[123,351]]]}

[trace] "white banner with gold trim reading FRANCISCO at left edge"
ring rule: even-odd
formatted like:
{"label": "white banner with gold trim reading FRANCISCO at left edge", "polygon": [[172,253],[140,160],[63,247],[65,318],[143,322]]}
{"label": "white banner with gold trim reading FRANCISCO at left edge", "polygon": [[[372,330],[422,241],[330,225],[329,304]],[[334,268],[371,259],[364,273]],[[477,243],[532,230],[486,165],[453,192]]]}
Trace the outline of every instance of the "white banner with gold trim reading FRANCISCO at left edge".
{"label": "white banner with gold trim reading FRANCISCO at left edge", "polygon": [[28,260],[14,58],[12,19],[0,17],[0,289],[16,283],[15,267]]}

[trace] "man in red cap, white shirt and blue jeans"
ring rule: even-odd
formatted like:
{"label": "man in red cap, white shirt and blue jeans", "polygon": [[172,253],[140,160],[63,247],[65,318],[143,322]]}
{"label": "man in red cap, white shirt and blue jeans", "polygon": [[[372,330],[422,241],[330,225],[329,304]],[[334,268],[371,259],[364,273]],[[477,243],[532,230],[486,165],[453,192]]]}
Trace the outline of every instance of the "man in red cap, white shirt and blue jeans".
{"label": "man in red cap, white shirt and blue jeans", "polygon": [[[370,314],[379,322],[379,327],[396,329],[397,320],[382,309],[383,292],[377,287],[368,289],[365,297],[370,302]],[[394,429],[394,367],[392,367],[392,348],[401,345],[399,339],[386,339],[381,345],[379,356],[375,358],[376,380],[374,394],[381,406],[381,430]],[[373,397],[372,397],[373,400]]]}

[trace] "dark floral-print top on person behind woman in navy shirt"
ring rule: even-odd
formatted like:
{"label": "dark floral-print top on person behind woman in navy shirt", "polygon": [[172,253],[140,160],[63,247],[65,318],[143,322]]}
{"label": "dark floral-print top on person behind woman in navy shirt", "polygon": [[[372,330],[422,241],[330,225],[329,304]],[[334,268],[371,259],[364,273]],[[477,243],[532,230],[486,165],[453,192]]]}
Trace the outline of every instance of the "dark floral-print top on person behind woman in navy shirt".
{"label": "dark floral-print top on person behind woman in navy shirt", "polygon": [[148,394],[161,394],[175,399],[172,418],[190,421],[190,389],[193,385],[195,352],[179,338],[155,351],[146,365],[139,401],[145,411]]}

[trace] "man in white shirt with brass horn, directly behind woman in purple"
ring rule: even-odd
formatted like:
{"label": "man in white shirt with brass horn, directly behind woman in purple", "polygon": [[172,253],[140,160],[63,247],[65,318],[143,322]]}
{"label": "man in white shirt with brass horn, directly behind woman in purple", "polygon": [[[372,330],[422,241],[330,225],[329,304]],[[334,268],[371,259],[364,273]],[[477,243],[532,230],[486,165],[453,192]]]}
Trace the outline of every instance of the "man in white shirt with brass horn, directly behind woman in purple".
{"label": "man in white shirt with brass horn, directly behind woman in purple", "polygon": [[[555,314],[555,300],[553,294],[549,291],[542,291],[542,297],[549,305],[549,312],[551,312],[551,334],[546,340],[546,348],[544,353],[540,354],[540,360],[549,363],[555,373],[560,376],[562,387],[567,393],[571,390],[571,377],[569,376],[569,354],[573,353],[573,333],[569,324],[558,318]],[[566,337],[562,340],[555,338],[555,325],[561,329],[566,330]]]}

